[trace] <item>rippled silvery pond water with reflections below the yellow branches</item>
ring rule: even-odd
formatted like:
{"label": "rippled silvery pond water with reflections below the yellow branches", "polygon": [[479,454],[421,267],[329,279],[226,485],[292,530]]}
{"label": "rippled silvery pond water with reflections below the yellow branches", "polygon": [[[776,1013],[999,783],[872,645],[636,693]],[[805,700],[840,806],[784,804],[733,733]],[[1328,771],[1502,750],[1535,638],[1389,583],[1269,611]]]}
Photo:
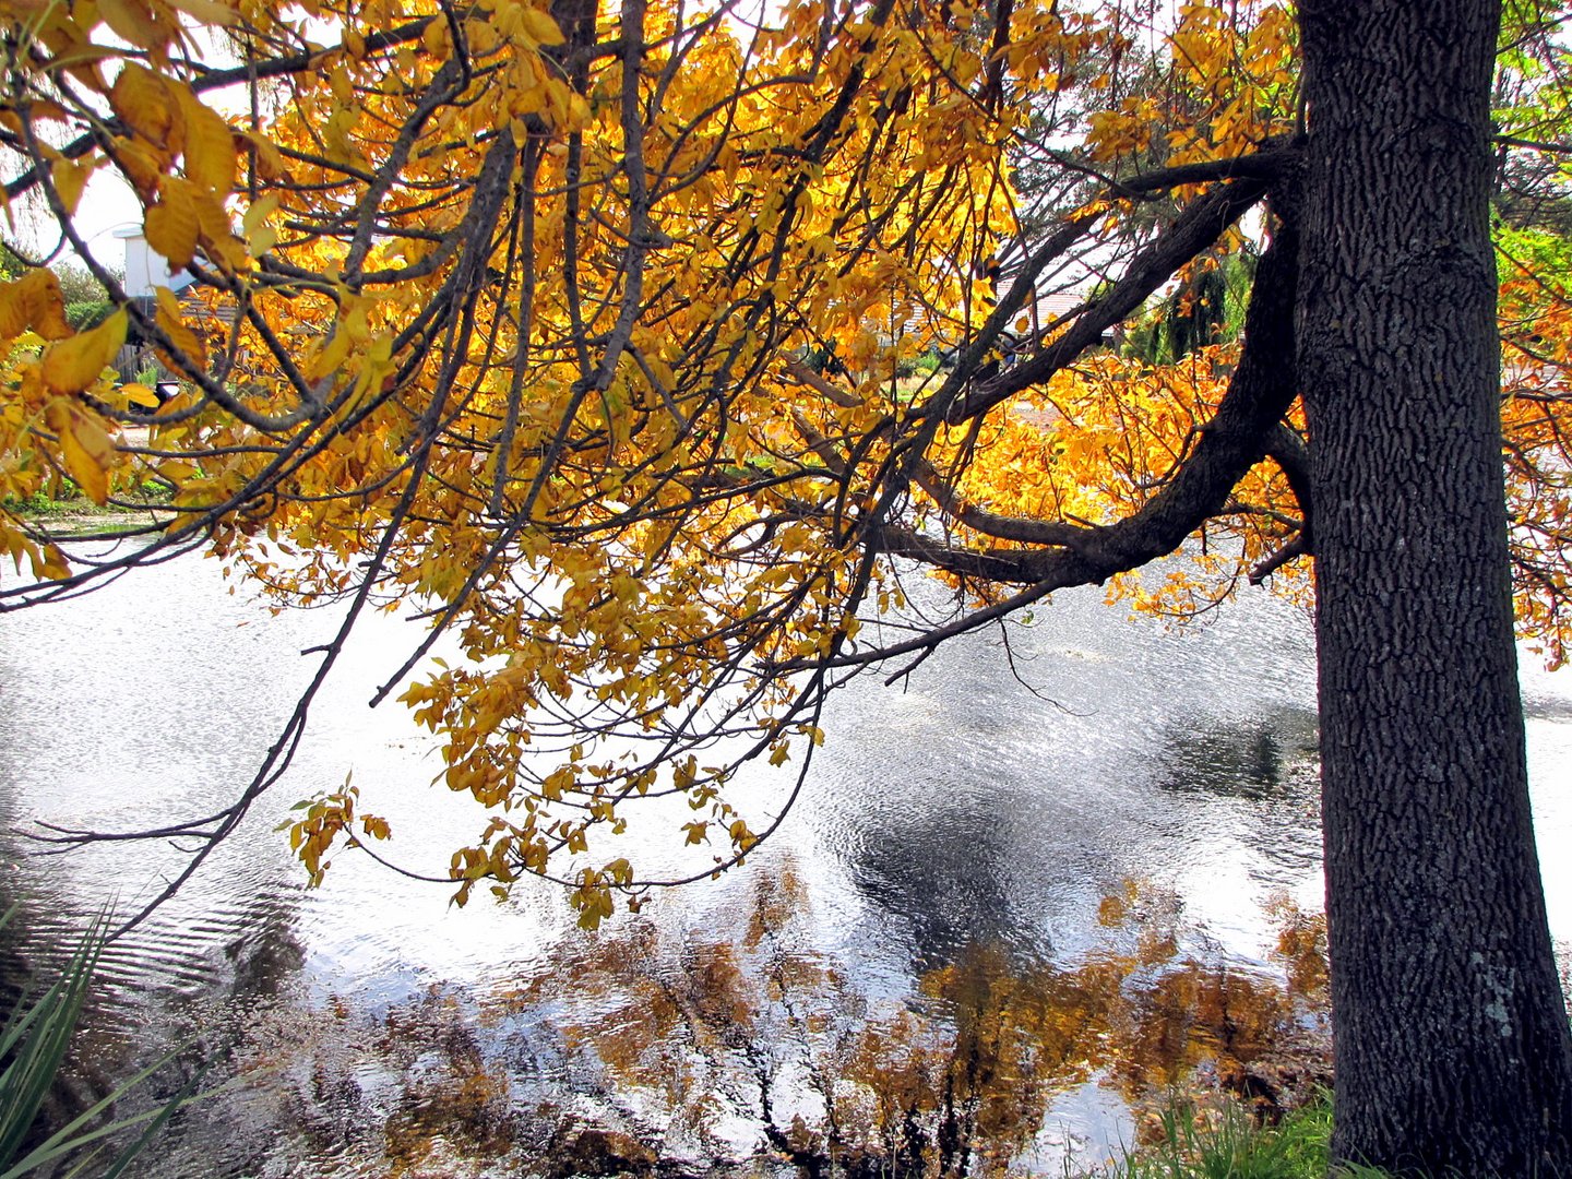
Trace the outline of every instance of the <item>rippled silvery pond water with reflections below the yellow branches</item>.
{"label": "rippled silvery pond water with reflections below the yellow branches", "polygon": [[[335,621],[270,618],[195,558],[0,616],[0,827],[212,810]],[[762,854],[597,934],[553,888],[457,910],[354,855],[302,887],[274,827],[351,772],[410,868],[483,825],[429,786],[407,714],[365,706],[412,635],[368,619],[289,777],[108,953],[80,1085],[167,1042],[231,1078],[149,1174],[1063,1174],[1135,1141],[1170,1085],[1267,1102],[1317,1074],[1314,651],[1291,605],[1250,593],[1170,634],[1063,594],[1012,630],[1014,671],[976,635],[904,689],[857,684]],[[1523,665],[1566,967],[1572,678]],[[772,786],[750,786],[766,808]],[[5,838],[13,973],[179,863]]]}

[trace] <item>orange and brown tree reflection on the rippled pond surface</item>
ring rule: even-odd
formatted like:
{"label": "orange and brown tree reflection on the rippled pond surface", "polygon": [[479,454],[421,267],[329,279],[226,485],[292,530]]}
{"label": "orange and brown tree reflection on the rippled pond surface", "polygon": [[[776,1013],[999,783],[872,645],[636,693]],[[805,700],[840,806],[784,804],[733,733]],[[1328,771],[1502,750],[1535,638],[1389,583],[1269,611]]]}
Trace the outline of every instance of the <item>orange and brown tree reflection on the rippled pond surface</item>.
{"label": "orange and brown tree reflection on the rippled pond surface", "polygon": [[1083,959],[1022,965],[976,943],[901,1001],[805,943],[805,896],[791,871],[761,880],[733,940],[648,923],[575,938],[512,989],[431,994],[369,1038],[325,1012],[340,1049],[319,1025],[272,1066],[333,1149],[355,1126],[365,1148],[380,1133],[391,1173],[454,1176],[756,1155],[810,1174],[1001,1174],[1086,1082],[1143,1108],[1201,1071],[1269,1110],[1319,1067],[1314,923],[1286,923],[1283,976],[1209,965],[1179,953],[1177,907],[1130,887]]}

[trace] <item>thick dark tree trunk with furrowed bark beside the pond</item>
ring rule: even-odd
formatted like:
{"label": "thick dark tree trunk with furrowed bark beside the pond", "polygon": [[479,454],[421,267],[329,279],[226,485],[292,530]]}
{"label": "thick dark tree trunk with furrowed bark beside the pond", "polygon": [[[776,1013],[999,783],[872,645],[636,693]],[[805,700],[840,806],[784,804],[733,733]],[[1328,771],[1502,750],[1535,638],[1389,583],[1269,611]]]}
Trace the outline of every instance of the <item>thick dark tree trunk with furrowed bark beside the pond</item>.
{"label": "thick dark tree trunk with furrowed bark beside the pond", "polygon": [[1572,1173],[1489,233],[1498,3],[1303,0],[1333,1154]]}

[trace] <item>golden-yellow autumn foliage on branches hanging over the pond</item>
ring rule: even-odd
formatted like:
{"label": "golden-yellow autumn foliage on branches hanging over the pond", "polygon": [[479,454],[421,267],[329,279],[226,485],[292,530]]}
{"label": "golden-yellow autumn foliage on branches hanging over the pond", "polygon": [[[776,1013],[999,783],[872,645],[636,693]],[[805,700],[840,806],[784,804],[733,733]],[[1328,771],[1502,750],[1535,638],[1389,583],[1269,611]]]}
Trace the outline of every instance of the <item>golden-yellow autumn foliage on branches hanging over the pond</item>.
{"label": "golden-yellow autumn foliage on branches hanging over the pond", "polygon": [[[1237,333],[1171,363],[1100,344],[1280,236],[1254,209],[1294,167],[1287,5],[1159,28],[1047,0],[3,0],[0,27],[9,214],[35,195],[86,253],[72,212],[118,173],[196,280],[137,302],[99,270],[118,310],[82,333],[46,269],[0,286],[0,547],[39,578],[0,601],[209,545],[344,632],[412,605],[377,696],[486,811],[461,901],[544,874],[593,926],[656,883],[597,835],[662,797],[698,876],[740,858],[770,830],[728,797],[740,764],[805,769],[836,682],[1055,588],[1308,591],[1297,410],[1170,511]],[[1520,618],[1559,659],[1572,316],[1537,263],[1503,264],[1503,404]],[[127,340],[179,387],[149,417],[110,368]],[[160,484],[167,519],[72,571],[13,506],[61,478]],[[1166,586],[1119,580],[1185,538]],[[913,566],[951,616],[907,610]],[[426,662],[439,635],[464,657]],[[308,704],[176,830],[228,832]],[[294,825],[313,880],[335,839],[388,835],[355,819],[346,791]]]}

